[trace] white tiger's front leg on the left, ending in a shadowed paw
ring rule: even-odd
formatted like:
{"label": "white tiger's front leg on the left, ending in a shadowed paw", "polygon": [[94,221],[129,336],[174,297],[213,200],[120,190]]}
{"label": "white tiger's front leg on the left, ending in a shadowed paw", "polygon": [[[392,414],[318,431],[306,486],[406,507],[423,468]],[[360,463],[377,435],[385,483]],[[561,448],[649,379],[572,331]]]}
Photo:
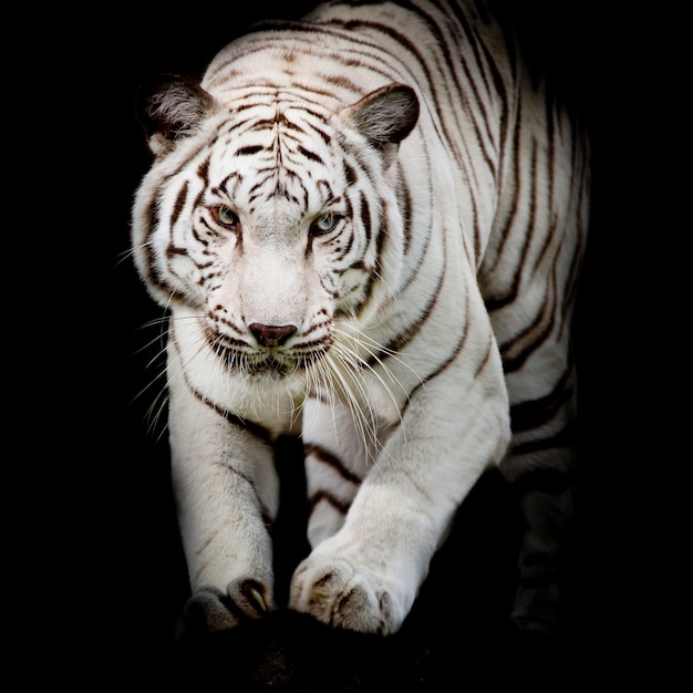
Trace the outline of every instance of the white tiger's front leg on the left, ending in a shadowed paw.
{"label": "white tiger's front leg on the left, ending in a shadowed paw", "polygon": [[278,482],[271,444],[172,381],[172,478],[192,596],[180,635],[216,632],[273,609],[269,528]]}

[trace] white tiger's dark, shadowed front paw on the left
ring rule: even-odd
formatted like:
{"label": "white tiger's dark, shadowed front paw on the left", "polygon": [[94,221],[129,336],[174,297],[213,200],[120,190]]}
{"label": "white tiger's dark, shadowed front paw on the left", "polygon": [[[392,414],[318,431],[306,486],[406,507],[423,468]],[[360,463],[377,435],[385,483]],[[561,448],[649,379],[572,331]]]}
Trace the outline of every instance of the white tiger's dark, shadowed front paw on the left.
{"label": "white tiger's dark, shadowed front paw on the left", "polygon": [[217,633],[265,616],[271,608],[269,589],[257,580],[229,582],[226,593],[216,588],[196,591],[185,603],[178,637]]}

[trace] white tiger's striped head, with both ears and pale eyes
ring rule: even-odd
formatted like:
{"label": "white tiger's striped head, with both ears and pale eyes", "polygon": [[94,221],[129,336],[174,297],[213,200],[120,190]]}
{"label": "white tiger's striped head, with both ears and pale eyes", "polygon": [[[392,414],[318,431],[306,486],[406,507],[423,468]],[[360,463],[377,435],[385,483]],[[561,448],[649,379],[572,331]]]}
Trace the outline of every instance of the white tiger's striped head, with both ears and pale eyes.
{"label": "white tiger's striped head, with both ears and pale eyes", "polygon": [[294,373],[340,321],[376,317],[402,262],[392,163],[418,117],[411,87],[335,110],[298,89],[214,95],[166,75],[137,113],[154,154],[133,210],[137,269],[229,369]]}

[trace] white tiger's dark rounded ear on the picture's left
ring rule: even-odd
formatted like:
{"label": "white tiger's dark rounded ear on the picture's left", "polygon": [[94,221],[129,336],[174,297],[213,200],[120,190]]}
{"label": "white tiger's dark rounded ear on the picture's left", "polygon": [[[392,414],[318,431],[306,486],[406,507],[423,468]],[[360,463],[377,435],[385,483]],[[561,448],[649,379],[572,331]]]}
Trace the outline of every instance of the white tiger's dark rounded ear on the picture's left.
{"label": "white tiger's dark rounded ear on the picture's left", "polygon": [[167,154],[214,110],[214,99],[192,80],[162,74],[137,90],[135,114],[154,156]]}

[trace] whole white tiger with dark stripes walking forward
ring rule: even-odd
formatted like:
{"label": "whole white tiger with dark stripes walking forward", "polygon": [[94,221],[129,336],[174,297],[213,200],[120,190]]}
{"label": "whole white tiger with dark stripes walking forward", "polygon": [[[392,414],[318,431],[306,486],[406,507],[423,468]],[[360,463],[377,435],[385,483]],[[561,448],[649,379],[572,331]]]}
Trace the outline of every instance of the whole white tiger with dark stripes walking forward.
{"label": "whole white tiger with dark stripes walking forward", "polygon": [[[169,311],[188,612],[220,630],[275,608],[273,444],[300,433],[311,552],[289,606],[395,632],[486,469],[569,473],[587,145],[462,0],[263,23],[142,121],[133,249]],[[556,621],[557,486],[523,497],[529,629]]]}

